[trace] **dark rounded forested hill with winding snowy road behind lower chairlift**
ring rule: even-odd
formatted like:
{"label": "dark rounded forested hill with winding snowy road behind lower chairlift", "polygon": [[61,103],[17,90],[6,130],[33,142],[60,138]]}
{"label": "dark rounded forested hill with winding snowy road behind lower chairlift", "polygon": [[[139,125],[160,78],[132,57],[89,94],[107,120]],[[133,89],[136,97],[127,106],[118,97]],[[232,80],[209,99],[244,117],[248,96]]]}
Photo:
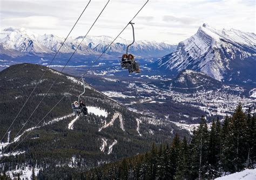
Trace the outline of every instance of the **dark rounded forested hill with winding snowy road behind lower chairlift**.
{"label": "dark rounded forested hill with winding snowy road behind lower chairlift", "polygon": [[[55,80],[56,84],[46,94]],[[37,83],[35,92],[4,136]],[[8,170],[19,171],[32,166],[36,170],[51,166],[86,169],[146,152],[153,142],[170,142],[176,133],[188,135],[169,121],[128,110],[88,84],[81,99],[89,115],[76,117],[71,103],[82,91],[83,83],[79,78],[44,66],[23,63],[1,71],[0,93],[4,96],[0,97],[0,135],[4,138],[0,142],[0,171],[12,162],[16,163]]]}

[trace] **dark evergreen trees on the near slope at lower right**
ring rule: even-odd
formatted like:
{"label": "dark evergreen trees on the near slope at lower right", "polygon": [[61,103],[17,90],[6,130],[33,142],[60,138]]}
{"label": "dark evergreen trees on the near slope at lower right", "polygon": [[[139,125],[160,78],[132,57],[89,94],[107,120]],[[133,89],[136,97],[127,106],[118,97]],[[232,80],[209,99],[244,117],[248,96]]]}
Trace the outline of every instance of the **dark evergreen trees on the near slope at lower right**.
{"label": "dark evergreen trees on the near slope at lower right", "polygon": [[[220,175],[255,168],[256,117],[242,112],[207,127],[204,117],[192,137],[176,134],[171,144],[153,144],[145,154],[81,172],[85,179],[214,179]],[[52,170],[41,171],[39,178]]]}

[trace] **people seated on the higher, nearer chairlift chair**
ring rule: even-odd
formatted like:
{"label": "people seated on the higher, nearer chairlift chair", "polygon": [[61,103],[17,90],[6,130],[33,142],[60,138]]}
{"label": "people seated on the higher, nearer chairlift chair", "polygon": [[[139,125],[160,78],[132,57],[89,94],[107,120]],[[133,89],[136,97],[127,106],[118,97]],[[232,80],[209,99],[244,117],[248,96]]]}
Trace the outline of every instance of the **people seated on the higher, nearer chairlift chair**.
{"label": "people seated on the higher, nearer chairlift chair", "polygon": [[128,69],[129,73],[140,73],[139,64],[134,61],[134,56],[132,54],[123,54],[121,66],[122,68]]}

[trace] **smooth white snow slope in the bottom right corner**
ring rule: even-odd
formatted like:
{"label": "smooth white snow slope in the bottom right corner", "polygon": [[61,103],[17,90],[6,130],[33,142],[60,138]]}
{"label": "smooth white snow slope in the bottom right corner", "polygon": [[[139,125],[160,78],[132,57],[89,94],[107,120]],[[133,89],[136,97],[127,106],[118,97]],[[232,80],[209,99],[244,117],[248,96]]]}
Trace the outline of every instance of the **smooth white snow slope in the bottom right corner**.
{"label": "smooth white snow slope in the bottom right corner", "polygon": [[255,180],[256,169],[246,169],[241,172],[235,172],[234,174],[218,177],[215,180]]}

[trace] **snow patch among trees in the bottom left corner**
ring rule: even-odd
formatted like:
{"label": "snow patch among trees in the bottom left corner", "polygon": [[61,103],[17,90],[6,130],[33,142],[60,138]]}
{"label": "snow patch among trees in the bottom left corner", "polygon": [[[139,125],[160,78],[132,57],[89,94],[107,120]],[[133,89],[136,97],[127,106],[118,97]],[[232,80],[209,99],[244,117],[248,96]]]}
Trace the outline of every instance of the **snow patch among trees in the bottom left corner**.
{"label": "snow patch among trees in the bottom left corner", "polygon": [[[35,168],[35,175],[38,175],[39,168]],[[17,170],[11,170],[11,171],[6,171],[6,175],[9,175],[11,179],[15,179],[17,175],[20,175],[21,179],[32,179],[32,168],[30,167],[25,167],[24,170],[22,169],[17,169]]]}

